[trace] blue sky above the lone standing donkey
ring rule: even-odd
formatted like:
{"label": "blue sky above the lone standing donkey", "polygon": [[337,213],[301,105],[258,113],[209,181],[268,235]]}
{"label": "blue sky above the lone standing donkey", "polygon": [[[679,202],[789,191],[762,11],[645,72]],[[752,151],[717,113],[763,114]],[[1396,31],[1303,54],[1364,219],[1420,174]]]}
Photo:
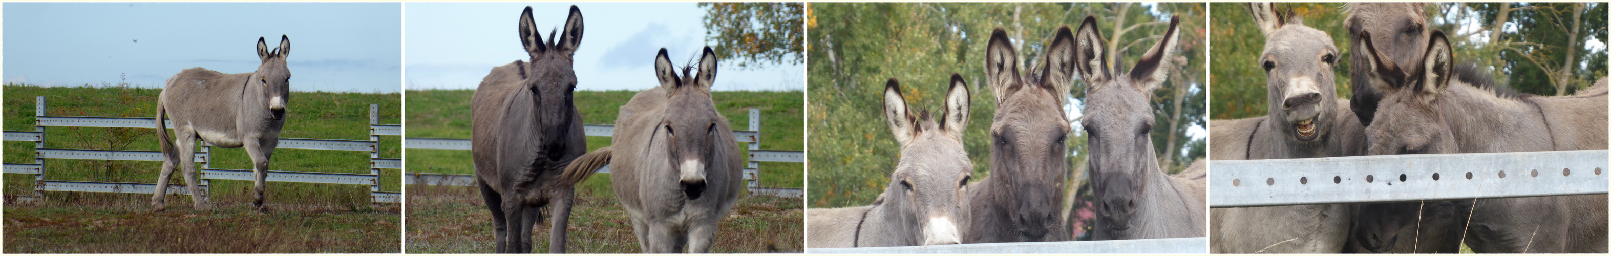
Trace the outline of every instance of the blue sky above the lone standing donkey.
{"label": "blue sky above the lone standing donkey", "polygon": [[[400,92],[401,3],[5,3],[0,79],[161,87],[180,69],[251,72],[288,35],[292,90]],[[511,29],[512,31],[512,29]]]}

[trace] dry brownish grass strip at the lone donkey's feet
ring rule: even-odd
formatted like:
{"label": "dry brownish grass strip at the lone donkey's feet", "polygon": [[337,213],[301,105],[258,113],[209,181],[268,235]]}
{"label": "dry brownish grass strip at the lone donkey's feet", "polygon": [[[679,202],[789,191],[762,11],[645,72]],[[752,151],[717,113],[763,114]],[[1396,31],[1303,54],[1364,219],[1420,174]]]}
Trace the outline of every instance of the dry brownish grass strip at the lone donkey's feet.
{"label": "dry brownish grass strip at the lone donkey's feet", "polygon": [[137,200],[5,206],[5,253],[400,253],[398,208],[250,204],[150,213]]}

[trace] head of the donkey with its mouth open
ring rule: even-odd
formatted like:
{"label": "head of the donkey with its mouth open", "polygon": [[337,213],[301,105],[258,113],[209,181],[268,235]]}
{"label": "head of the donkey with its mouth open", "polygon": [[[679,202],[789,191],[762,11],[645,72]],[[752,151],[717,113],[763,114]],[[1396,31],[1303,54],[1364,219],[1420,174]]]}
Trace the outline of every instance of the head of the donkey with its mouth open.
{"label": "head of the donkey with its mouth open", "polygon": [[1298,143],[1318,147],[1332,129],[1337,108],[1337,45],[1331,35],[1303,26],[1290,10],[1276,11],[1274,3],[1252,3],[1253,21],[1265,32],[1265,52],[1258,58],[1265,68],[1269,118],[1289,126],[1276,130]]}

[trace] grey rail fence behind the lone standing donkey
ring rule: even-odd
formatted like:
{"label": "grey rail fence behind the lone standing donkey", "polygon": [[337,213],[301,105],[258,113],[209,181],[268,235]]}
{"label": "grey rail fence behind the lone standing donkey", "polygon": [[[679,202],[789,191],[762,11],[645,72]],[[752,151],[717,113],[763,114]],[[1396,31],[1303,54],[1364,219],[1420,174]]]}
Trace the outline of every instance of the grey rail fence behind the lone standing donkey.
{"label": "grey rail fence behind the lone standing donkey", "polygon": [[[280,138],[277,150],[338,150],[369,151],[369,174],[333,174],[333,172],[292,172],[269,171],[269,182],[301,182],[301,184],[345,184],[369,185],[372,203],[398,203],[401,192],[380,192],[380,169],[403,169],[401,158],[380,158],[380,135],[403,135],[400,124],[380,124],[379,105],[369,105],[369,140],[327,140],[327,138]],[[34,130],[5,130],[5,142],[34,142],[34,163],[5,163],[5,174],[32,174],[34,195],[18,196],[19,200],[42,198],[39,192],[103,192],[103,193],[153,193],[156,184],[137,182],[79,182],[79,180],[45,180],[45,159],[113,159],[113,161],[163,161],[161,151],[132,150],[72,150],[45,148],[45,127],[132,127],[155,129],[155,118],[103,118],[103,116],[45,116],[45,97],[34,103]],[[164,119],[166,121],[166,119]],[[172,121],[169,127],[172,127]],[[168,132],[168,130],[158,130]],[[208,158],[211,143],[203,142],[195,161],[200,164],[198,179],[201,193],[211,193],[209,180],[255,180],[250,169],[213,169]],[[184,185],[171,184],[171,195],[190,195]],[[206,195],[203,195],[206,196]],[[211,198],[209,198],[211,200]]]}

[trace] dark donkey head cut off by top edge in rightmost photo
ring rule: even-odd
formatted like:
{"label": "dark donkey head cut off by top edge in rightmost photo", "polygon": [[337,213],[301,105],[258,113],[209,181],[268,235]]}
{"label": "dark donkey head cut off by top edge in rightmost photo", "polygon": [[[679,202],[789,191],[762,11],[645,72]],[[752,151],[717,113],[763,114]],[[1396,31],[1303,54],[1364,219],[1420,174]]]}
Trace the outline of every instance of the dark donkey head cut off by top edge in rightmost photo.
{"label": "dark donkey head cut off by top edge in rightmost photo", "polygon": [[[1366,61],[1360,32],[1371,32],[1374,35],[1371,43],[1376,45],[1376,50],[1397,66],[1419,63],[1421,55],[1426,53],[1426,42],[1431,39],[1426,18],[1421,14],[1421,3],[1348,3],[1348,18],[1344,24],[1348,27],[1348,55],[1353,63]],[[1360,118],[1360,124],[1371,126],[1373,118],[1376,118],[1376,101],[1382,98],[1382,93],[1366,77],[1373,66],[1353,64],[1350,69],[1353,101],[1348,105]]]}

